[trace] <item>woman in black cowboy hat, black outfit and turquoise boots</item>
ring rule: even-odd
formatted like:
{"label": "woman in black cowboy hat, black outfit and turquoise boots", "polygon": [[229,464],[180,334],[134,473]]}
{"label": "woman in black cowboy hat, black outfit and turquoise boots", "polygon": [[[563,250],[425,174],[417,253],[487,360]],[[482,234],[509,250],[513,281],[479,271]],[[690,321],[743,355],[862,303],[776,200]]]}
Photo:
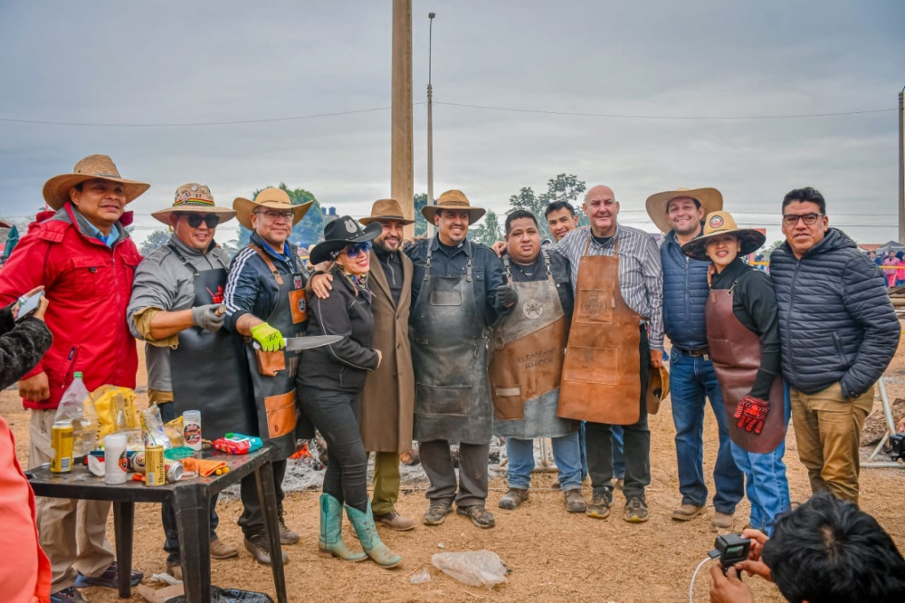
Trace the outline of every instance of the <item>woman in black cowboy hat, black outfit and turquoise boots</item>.
{"label": "woman in black cowboy hat, black outfit and turquoise boots", "polygon": [[[367,497],[367,452],[358,431],[358,395],[367,372],[380,364],[372,349],[374,318],[367,288],[371,241],[382,232],[379,223],[363,228],[348,215],[324,227],[324,242],[311,250],[310,262],[333,262],[333,292],[326,300],[313,297],[309,335],[342,335],[337,343],[306,349],[296,379],[302,410],[327,440],[329,464],[320,496],[319,549],[342,560],[370,557],[392,568],[402,557],[380,541]],[[355,527],[364,553],[342,541],[342,509]]]}

